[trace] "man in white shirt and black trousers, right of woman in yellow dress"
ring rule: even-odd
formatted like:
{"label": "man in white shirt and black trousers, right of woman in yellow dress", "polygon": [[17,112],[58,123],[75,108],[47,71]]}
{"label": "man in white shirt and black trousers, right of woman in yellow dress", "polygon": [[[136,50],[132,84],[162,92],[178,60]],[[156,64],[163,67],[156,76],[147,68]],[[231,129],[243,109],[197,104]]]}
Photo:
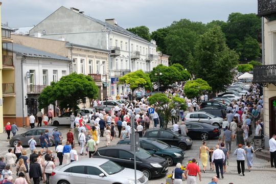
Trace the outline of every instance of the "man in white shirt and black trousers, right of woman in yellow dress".
{"label": "man in white shirt and black trousers, right of woman in yellow dress", "polygon": [[221,149],[219,149],[219,145],[216,146],[216,150],[212,155],[212,163],[215,163],[217,178],[219,178],[219,169],[221,173],[221,178],[223,177],[223,162],[225,160],[225,155]]}

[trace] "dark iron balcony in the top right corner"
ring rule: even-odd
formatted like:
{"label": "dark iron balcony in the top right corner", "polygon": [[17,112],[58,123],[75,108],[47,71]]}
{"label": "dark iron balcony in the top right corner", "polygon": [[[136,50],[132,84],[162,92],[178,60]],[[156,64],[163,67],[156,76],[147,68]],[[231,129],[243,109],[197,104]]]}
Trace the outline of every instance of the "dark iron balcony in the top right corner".
{"label": "dark iron balcony in the top right corner", "polygon": [[268,19],[271,15],[276,15],[276,1],[258,0],[258,15],[268,17]]}

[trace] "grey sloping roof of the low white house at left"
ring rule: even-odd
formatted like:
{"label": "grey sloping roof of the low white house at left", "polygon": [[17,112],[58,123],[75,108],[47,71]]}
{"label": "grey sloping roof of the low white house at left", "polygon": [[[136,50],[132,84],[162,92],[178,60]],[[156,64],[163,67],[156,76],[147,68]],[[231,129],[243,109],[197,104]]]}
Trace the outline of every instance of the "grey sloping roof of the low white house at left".
{"label": "grey sloping roof of the low white house at left", "polygon": [[3,49],[8,49],[9,51],[13,51],[16,54],[26,56],[26,57],[48,58],[48,59],[71,61],[70,59],[60,56],[60,55],[57,55],[57,54],[41,51],[38,49],[33,49],[33,48],[26,47],[24,45],[20,45],[20,44],[16,44],[16,43],[4,44]]}

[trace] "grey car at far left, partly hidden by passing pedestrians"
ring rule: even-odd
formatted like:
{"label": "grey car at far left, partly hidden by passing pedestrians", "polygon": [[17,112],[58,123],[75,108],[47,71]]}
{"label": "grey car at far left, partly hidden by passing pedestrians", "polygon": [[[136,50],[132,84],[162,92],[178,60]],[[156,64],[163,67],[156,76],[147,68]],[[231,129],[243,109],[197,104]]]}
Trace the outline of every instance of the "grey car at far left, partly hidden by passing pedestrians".
{"label": "grey car at far left, partly hidden by passing pedestrians", "polygon": [[[12,139],[10,139],[10,145],[15,147],[20,141],[22,146],[28,146],[28,141],[33,136],[34,140],[36,141],[36,145],[40,146],[40,143],[39,143],[39,137],[41,135],[40,133],[41,132],[44,133],[45,130],[48,130],[49,136],[52,136],[54,131],[58,130],[58,128],[54,126],[32,128],[31,130],[28,130],[25,133],[21,133],[13,136]],[[51,139],[50,145],[53,146],[54,144],[55,144],[55,140]]]}

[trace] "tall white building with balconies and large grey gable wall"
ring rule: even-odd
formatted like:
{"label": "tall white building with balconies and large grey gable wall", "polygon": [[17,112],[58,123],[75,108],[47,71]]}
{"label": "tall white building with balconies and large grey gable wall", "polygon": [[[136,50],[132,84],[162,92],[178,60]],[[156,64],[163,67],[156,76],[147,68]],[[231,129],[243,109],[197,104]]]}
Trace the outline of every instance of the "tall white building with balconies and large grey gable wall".
{"label": "tall white building with balconies and large grey gable wall", "polygon": [[101,21],[76,8],[60,7],[31,29],[30,36],[55,40],[64,38],[73,44],[109,50],[109,62],[106,63],[108,69],[106,67],[106,71],[97,70],[93,74],[105,75],[101,72],[106,72],[110,76],[107,84],[110,88],[108,96],[114,97],[129,90],[127,86],[111,81],[117,81],[122,75],[140,69],[150,72],[158,65],[155,41],[149,42],[127,31],[113,18]]}

